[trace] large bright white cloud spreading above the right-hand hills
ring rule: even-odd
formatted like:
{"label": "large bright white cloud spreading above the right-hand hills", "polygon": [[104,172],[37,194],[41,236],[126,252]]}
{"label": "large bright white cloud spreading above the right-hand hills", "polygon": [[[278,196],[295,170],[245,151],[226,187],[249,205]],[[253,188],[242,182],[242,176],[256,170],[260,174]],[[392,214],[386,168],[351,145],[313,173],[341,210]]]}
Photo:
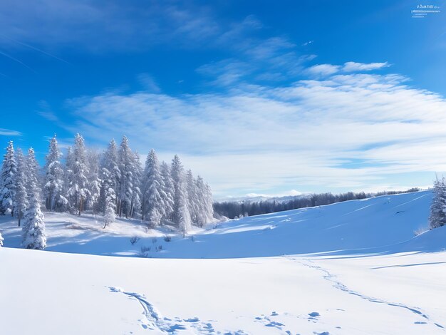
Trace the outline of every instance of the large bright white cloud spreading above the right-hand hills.
{"label": "large bright white cloud spreading above the right-hand hills", "polygon": [[446,170],[446,101],[406,82],[351,73],[227,93],[108,93],[71,100],[71,130],[100,143],[125,133],[165,160],[179,153],[216,195],[372,187]]}

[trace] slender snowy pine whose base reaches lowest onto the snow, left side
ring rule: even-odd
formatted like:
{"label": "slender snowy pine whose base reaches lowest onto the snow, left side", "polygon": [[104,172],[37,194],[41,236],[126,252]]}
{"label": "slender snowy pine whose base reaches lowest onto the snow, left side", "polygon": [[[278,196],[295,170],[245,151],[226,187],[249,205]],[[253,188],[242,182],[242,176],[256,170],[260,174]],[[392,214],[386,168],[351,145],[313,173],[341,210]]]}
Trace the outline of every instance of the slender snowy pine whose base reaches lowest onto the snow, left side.
{"label": "slender snowy pine whose base reaches lowest onto the snow, left side", "polygon": [[43,213],[40,205],[40,189],[38,187],[38,164],[33,148],[28,150],[28,208],[22,227],[22,245],[26,249],[45,249],[46,232]]}

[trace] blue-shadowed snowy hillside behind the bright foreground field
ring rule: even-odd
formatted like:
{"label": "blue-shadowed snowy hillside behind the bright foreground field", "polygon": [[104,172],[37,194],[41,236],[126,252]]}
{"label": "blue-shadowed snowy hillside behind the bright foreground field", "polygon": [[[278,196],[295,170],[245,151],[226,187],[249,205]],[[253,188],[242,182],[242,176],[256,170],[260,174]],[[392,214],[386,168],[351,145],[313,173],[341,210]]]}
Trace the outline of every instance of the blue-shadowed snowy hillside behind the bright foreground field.
{"label": "blue-shadowed snowy hillside behind the bright foreground field", "polygon": [[[183,238],[166,228],[146,231],[136,220],[118,220],[103,229],[100,217],[46,213],[50,251],[135,256],[141,247],[147,257],[229,258],[331,252],[393,253],[435,251],[445,239],[435,232],[436,244],[422,242],[427,227],[432,191],[352,200],[321,207],[244,217],[217,227],[190,232]],[[20,247],[21,230],[9,217],[1,217],[6,247]],[[169,234],[171,242],[163,237]],[[138,236],[135,244],[130,237]],[[420,241],[420,242],[418,242]]]}

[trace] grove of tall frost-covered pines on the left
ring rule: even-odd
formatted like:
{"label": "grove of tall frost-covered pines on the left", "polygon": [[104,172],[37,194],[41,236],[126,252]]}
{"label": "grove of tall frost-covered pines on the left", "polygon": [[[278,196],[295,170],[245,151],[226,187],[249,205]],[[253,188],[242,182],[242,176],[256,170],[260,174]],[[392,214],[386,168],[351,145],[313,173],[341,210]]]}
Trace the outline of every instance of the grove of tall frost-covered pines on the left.
{"label": "grove of tall frost-covered pines on the left", "polygon": [[19,226],[24,219],[24,247],[43,249],[46,245],[41,206],[77,215],[85,210],[100,212],[104,227],[119,216],[138,218],[149,227],[166,222],[182,233],[213,219],[209,185],[191,170],[185,171],[178,155],[168,165],[159,162],[152,149],[142,166],[140,155],[130,149],[125,136],[119,146],[111,140],[98,153],[76,134],[64,162],[61,158],[56,135],[50,140],[43,169],[32,148],[27,156],[20,148],[14,151],[12,141],[6,148],[0,174],[0,214],[16,217]]}

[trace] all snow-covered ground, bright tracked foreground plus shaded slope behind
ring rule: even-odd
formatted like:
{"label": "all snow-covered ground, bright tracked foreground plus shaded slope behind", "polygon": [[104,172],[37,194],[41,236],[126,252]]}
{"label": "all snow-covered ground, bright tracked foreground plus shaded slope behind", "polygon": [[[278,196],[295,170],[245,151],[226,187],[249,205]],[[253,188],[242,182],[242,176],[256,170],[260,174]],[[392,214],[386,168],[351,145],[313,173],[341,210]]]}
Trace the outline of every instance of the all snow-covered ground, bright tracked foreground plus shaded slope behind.
{"label": "all snow-covered ground, bright tracked foreground plus shaded slope behind", "polygon": [[431,200],[353,200],[185,238],[46,213],[52,252],[16,249],[20,230],[0,217],[0,334],[446,334],[446,227],[414,235]]}

